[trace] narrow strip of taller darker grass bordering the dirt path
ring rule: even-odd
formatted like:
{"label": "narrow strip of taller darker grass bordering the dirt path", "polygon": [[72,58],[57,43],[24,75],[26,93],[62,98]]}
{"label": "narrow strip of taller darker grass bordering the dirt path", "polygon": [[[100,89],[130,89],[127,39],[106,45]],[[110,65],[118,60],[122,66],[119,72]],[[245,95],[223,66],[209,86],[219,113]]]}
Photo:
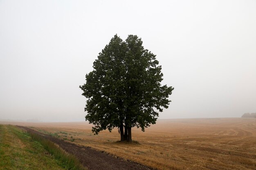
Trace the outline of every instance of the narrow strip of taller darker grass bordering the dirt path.
{"label": "narrow strip of taller darker grass bordering the dirt path", "polygon": [[[29,132],[28,132],[29,133]],[[29,133],[31,138],[43,145],[45,150],[47,150],[55,159],[60,161],[60,166],[68,170],[86,170],[84,166],[81,165],[79,160],[72,154],[66,153],[59,146],[54,144],[54,142],[49,139],[45,139],[36,133]]]}

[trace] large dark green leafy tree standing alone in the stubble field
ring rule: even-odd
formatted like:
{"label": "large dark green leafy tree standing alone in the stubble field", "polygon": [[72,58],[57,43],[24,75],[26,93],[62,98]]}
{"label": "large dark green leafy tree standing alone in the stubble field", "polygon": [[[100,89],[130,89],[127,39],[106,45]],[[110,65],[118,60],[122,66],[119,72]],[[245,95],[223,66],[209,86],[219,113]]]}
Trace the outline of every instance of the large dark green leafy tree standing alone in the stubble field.
{"label": "large dark green leafy tree standing alone in the stubble field", "polygon": [[161,85],[162,67],[156,55],[144,49],[137,35],[126,41],[115,35],[99,53],[86,83],[79,86],[88,98],[85,119],[94,124],[92,131],[119,129],[121,141],[132,141],[131,128],[155,124],[168,108],[173,87]]}

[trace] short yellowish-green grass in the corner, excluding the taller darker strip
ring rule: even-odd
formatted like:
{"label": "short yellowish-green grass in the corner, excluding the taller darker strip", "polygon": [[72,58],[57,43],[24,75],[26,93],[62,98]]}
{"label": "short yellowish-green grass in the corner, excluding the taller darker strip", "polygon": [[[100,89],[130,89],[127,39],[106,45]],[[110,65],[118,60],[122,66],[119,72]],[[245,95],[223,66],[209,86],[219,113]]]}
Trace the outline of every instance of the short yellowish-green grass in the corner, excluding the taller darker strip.
{"label": "short yellowish-green grass in the corner, excluding the taller darker strip", "polygon": [[0,125],[0,169],[62,170],[61,161],[16,126]]}

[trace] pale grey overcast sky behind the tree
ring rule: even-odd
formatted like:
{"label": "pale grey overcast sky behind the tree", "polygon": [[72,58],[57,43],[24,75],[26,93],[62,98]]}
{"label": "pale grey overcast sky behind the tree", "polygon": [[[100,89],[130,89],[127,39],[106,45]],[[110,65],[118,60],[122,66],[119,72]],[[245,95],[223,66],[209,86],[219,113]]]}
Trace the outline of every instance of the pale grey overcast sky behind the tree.
{"label": "pale grey overcast sky behind the tree", "polygon": [[115,34],[175,88],[159,118],[256,112],[255,0],[0,0],[0,119],[84,121],[79,85]]}

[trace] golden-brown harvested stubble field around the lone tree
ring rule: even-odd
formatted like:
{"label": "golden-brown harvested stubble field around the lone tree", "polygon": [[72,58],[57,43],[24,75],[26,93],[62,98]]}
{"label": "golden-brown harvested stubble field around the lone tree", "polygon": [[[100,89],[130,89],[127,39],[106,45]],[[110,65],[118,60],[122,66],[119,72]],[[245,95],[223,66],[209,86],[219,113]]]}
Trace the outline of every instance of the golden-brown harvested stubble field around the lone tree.
{"label": "golden-brown harvested stubble field around the lone tree", "polygon": [[145,132],[132,129],[136,143],[120,143],[117,129],[93,135],[87,122],[22,123],[75,144],[152,168],[256,169],[255,118],[201,118],[157,120]]}

